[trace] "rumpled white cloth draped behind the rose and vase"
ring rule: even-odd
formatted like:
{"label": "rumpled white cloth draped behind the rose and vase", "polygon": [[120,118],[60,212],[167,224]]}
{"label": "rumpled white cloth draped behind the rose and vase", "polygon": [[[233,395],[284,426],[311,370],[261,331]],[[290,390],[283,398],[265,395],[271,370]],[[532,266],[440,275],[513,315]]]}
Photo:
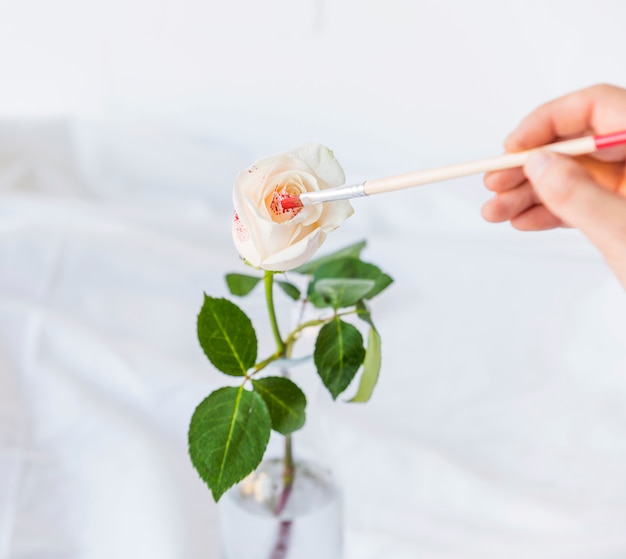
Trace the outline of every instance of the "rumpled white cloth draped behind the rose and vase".
{"label": "rumpled white cloth draped behind the rose and vase", "polygon": [[[361,149],[336,153],[349,176]],[[0,125],[0,558],[218,557],[186,432],[223,378],[195,317],[245,271],[230,193],[257,152]],[[472,177],[357,200],[323,247],[367,238],[395,278],[373,400],[323,406],[346,559],[626,557],[624,292],[576,232],[485,224],[484,198]]]}

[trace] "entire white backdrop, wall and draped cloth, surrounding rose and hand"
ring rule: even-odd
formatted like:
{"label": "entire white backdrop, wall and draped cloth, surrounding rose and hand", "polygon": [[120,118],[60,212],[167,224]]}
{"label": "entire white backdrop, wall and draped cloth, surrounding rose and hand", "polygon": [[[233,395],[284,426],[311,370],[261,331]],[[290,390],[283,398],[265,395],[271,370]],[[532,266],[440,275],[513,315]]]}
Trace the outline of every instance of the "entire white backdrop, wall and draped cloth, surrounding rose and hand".
{"label": "entire white backdrop, wall and draped cloth, surrounding rose and hand", "polygon": [[[625,21],[623,0],[0,0],[0,558],[217,557],[185,441],[223,382],[194,328],[243,271],[236,172],[307,141],[355,180],[495,155],[537,104],[626,85]],[[576,232],[484,223],[486,197],[358,201],[325,247],[367,237],[395,279],[374,399],[322,414],[347,559],[626,556],[623,291]]]}

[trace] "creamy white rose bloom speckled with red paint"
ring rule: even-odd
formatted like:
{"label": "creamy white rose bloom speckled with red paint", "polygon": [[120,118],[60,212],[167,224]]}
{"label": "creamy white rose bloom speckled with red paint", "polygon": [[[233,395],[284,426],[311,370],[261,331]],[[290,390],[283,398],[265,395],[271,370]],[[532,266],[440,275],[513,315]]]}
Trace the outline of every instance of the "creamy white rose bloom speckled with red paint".
{"label": "creamy white rose bloom speckled with red paint", "polygon": [[237,175],[233,190],[233,240],[252,266],[285,271],[304,264],[353,213],[345,200],[285,209],[282,197],[344,183],[333,152],[306,144],[262,159]]}

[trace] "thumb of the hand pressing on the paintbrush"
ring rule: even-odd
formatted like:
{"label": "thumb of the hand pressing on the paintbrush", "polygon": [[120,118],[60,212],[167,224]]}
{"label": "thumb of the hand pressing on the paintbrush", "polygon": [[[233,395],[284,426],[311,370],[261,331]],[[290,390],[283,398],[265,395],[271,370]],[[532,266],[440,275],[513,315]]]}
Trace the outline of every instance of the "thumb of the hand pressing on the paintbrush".
{"label": "thumb of the hand pressing on the paintbrush", "polygon": [[580,229],[607,259],[624,258],[626,198],[603,189],[575,160],[546,150],[529,157],[524,173],[554,215]]}

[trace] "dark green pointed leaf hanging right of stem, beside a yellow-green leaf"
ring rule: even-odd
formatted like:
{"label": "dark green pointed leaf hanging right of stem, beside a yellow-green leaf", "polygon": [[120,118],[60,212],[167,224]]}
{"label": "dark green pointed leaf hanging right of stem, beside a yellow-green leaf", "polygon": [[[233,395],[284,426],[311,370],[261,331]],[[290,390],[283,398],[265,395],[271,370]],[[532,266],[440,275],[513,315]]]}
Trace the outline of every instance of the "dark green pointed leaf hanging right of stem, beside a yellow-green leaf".
{"label": "dark green pointed leaf hanging right of stem, beside a yellow-green leaf", "polygon": [[363,336],[352,324],[335,317],[320,329],[313,360],[333,399],[348,387],[364,357]]}

